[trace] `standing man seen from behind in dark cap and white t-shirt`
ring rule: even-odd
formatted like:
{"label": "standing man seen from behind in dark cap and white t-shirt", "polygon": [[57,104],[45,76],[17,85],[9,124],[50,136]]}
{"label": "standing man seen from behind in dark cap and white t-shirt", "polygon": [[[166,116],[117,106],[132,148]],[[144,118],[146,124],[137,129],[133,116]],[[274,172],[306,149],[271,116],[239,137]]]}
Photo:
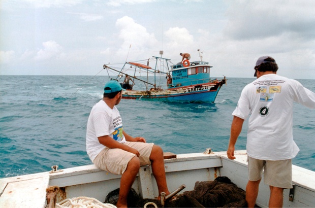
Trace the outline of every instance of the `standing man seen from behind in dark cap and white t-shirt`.
{"label": "standing man seen from behind in dark cap and white t-shirt", "polygon": [[299,148],[293,140],[293,103],[315,109],[315,93],[296,80],[277,75],[278,65],[270,56],[257,62],[257,80],[246,85],[233,111],[229,159],[235,159],[235,144],[243,122],[250,115],[247,131],[248,183],[246,201],[254,207],[259,184],[270,187],[269,207],[282,207],[283,189],[292,188],[292,158]]}

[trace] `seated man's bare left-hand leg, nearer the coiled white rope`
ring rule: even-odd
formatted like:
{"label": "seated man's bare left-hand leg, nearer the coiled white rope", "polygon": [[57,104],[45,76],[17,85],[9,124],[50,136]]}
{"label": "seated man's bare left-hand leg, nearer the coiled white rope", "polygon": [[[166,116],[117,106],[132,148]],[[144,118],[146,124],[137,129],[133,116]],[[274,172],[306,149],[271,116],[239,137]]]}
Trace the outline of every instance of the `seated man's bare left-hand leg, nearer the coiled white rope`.
{"label": "seated man's bare left-hand leg, nearer the coiled white rope", "polygon": [[138,157],[133,157],[126,170],[123,172],[120,179],[119,198],[117,201],[117,207],[128,207],[127,198],[128,193],[137,177],[140,168],[140,160]]}

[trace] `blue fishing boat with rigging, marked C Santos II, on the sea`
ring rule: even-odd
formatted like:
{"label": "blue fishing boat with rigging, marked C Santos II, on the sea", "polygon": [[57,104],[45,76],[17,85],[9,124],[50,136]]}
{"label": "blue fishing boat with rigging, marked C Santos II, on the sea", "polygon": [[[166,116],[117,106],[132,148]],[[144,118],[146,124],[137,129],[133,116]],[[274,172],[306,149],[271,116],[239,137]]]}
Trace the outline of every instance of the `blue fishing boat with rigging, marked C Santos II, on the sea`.
{"label": "blue fishing boat with rigging, marked C Santos II, on the sea", "polygon": [[[183,62],[172,64],[171,59],[163,58],[163,51],[160,51],[161,57],[152,56],[148,60],[139,62],[125,62],[120,70],[117,70],[109,64],[104,64],[106,70],[116,72],[117,77],[111,78],[120,82],[123,75],[128,74],[132,78],[133,85],[122,92],[123,99],[142,99],[167,102],[214,102],[222,85],[227,81],[226,77],[222,80],[210,79],[209,62],[202,60],[192,61],[185,59]],[[146,62],[146,64],[144,63]],[[155,62],[154,67],[150,66],[150,62]],[[133,75],[130,75],[131,71]],[[145,76],[138,76],[143,72]],[[109,73],[108,73],[109,74]],[[172,83],[163,89],[161,82],[166,83],[165,77],[171,75]],[[149,81],[149,76],[154,77],[154,81]],[[161,81],[161,79],[163,81]],[[145,83],[146,89],[135,89],[135,83]],[[157,84],[159,83],[159,84]],[[123,86],[123,83],[121,83]]]}

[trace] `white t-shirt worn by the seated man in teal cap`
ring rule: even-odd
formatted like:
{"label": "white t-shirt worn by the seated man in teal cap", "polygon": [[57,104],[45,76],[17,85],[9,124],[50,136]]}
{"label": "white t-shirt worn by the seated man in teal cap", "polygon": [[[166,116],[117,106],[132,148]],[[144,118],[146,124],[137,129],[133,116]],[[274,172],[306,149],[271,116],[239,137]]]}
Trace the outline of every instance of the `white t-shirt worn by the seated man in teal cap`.
{"label": "white t-shirt worn by the seated man in teal cap", "polygon": [[104,100],[100,100],[93,106],[87,120],[86,152],[91,161],[105,148],[98,139],[105,135],[109,135],[117,142],[125,143],[118,109],[115,106],[111,109]]}

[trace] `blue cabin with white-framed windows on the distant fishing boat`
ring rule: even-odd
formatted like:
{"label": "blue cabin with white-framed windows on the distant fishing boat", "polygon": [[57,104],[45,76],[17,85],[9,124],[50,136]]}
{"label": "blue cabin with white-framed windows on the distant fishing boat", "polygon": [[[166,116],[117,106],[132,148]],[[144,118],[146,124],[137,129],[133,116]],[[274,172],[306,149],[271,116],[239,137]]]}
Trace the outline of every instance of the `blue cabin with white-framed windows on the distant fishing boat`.
{"label": "blue cabin with white-framed windows on the distant fishing boat", "polygon": [[205,61],[194,61],[188,66],[179,62],[169,71],[172,73],[173,83],[168,88],[208,83],[211,67],[209,62]]}

